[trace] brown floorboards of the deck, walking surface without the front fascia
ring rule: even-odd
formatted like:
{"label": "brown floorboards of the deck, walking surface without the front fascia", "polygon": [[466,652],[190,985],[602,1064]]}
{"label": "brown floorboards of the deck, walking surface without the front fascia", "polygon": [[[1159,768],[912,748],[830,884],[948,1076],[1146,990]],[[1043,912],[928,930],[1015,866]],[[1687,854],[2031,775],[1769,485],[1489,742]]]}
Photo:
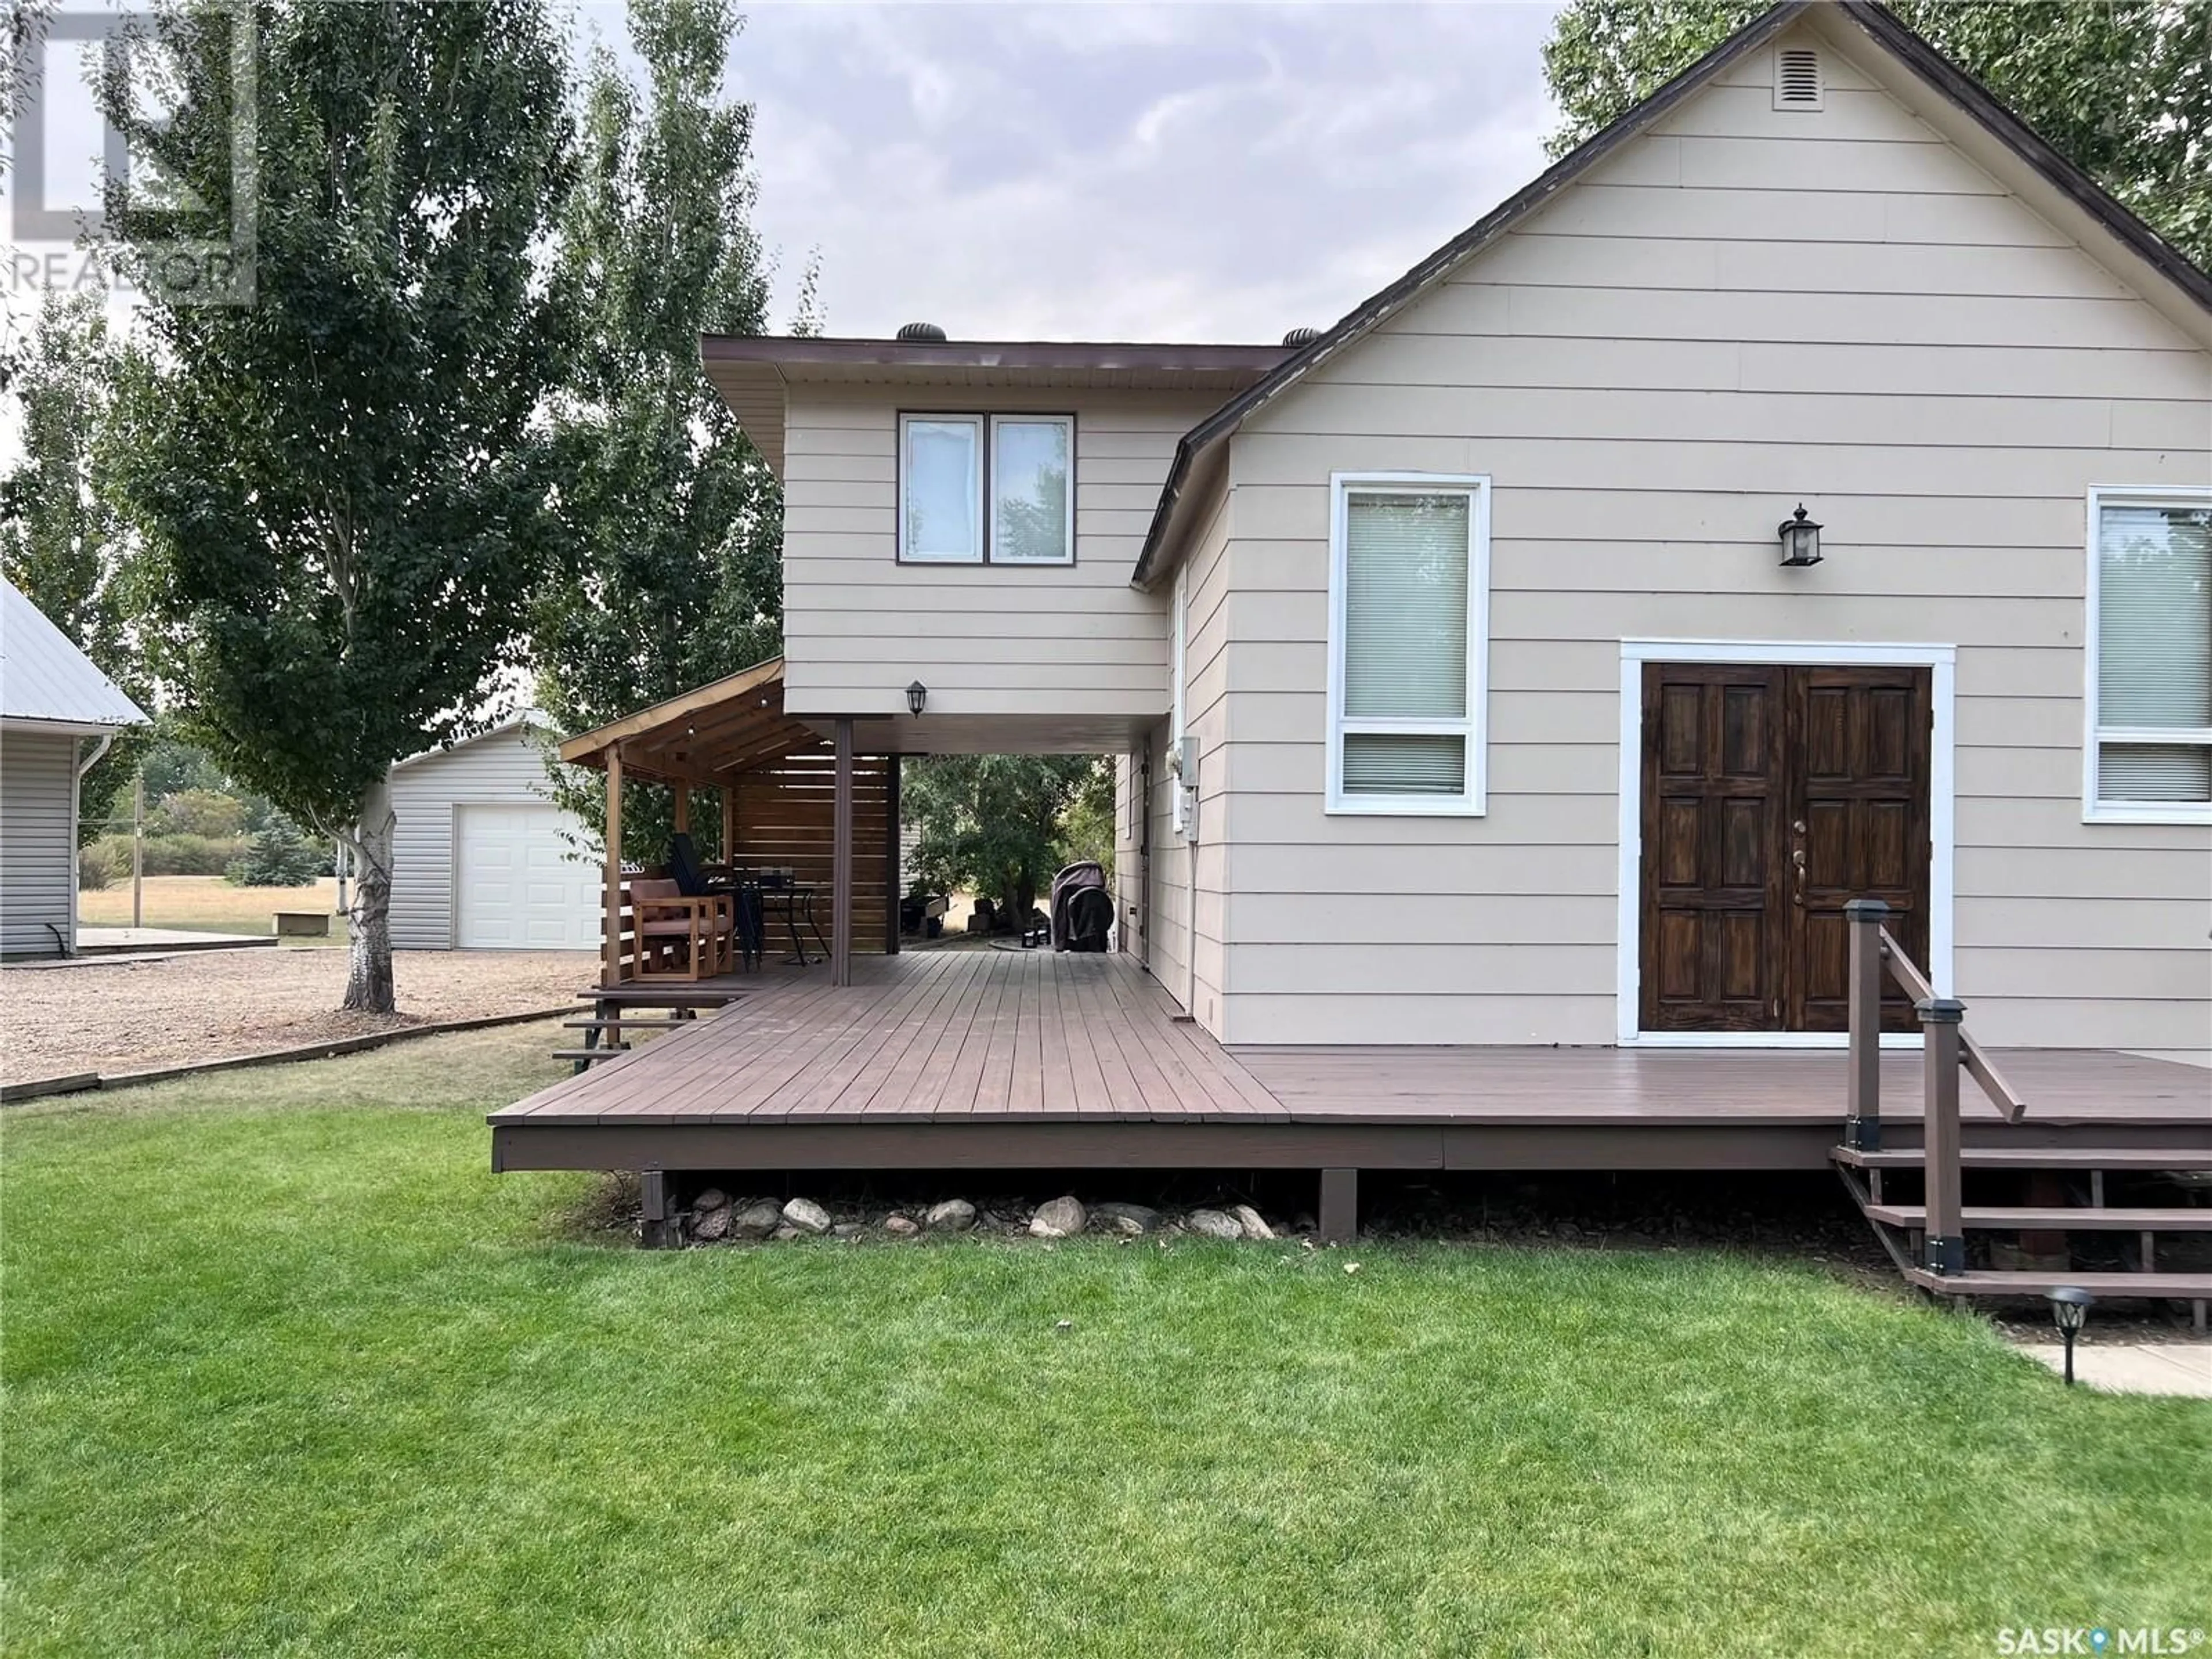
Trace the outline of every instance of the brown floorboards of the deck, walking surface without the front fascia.
{"label": "brown floorboards of the deck, walking surface without the front fascia", "polygon": [[[1126,956],[933,949],[732,975],[743,998],[491,1115],[498,1126],[1214,1124],[1336,1128],[1832,1126],[1840,1051],[1223,1048]],[[2212,1144],[2212,1073],[2132,1055],[1995,1055],[2028,1126],[2172,1126]],[[1971,1084],[1969,1124],[1997,1124]],[[1920,1117],[1920,1055],[1882,1057]],[[1228,1133],[1228,1130],[1223,1130]]]}

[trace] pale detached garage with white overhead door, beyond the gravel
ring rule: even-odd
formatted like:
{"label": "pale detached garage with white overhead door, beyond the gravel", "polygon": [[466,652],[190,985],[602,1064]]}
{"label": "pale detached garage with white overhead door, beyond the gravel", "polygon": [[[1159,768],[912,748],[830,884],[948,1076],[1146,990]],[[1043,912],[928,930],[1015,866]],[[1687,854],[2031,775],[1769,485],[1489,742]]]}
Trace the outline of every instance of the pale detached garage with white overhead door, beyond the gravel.
{"label": "pale detached garage with white overhead door, beyond the gravel", "polygon": [[392,768],[396,949],[599,949],[599,865],[540,741],[524,717]]}

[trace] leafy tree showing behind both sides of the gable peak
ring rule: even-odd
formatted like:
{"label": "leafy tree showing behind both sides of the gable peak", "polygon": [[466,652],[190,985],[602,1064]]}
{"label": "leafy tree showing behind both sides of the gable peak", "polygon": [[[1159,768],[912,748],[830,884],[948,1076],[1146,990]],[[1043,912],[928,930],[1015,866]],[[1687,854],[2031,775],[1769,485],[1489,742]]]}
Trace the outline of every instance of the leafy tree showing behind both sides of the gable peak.
{"label": "leafy tree showing behind both sides of the gable peak", "polygon": [[[1756,18],[1763,0],[1571,0],[1544,44],[1553,155]],[[2199,265],[2212,265],[2212,4],[1893,0],[1909,29]]]}

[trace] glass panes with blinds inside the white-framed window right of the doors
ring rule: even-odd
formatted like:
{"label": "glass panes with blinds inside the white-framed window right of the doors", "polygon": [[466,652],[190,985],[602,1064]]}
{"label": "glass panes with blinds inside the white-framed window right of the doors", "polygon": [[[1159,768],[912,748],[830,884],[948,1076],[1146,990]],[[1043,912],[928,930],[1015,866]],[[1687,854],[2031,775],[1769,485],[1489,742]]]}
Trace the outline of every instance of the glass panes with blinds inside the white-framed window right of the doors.
{"label": "glass panes with blinds inside the white-framed window right of the doors", "polygon": [[2099,801],[2212,801],[2212,511],[2108,502],[2097,520]]}

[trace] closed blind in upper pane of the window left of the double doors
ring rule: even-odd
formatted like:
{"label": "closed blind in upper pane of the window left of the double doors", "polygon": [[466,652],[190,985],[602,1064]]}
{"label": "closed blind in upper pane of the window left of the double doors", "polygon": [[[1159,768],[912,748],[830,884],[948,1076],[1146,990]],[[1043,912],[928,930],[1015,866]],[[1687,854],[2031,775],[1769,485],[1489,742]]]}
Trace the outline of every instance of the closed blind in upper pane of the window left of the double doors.
{"label": "closed blind in upper pane of the window left of the double doors", "polygon": [[1467,495],[1347,498],[1345,719],[1464,719],[1469,515]]}

